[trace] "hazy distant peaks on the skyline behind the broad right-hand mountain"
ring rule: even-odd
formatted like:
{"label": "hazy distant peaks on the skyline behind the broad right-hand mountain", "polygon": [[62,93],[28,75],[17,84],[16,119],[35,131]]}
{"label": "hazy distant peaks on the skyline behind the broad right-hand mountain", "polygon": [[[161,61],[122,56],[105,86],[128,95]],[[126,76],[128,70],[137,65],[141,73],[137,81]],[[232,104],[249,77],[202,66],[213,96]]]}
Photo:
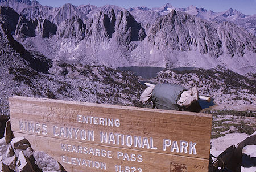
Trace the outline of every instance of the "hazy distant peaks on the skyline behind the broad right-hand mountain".
{"label": "hazy distant peaks on the skyline behind the broad right-hand mountain", "polygon": [[[252,33],[253,35],[256,34],[255,29],[255,14],[254,15],[245,15],[242,12],[233,10],[230,8],[229,10],[223,12],[213,12],[208,11],[204,8],[198,8],[196,6],[189,6],[187,8],[176,8],[172,6],[170,3],[159,7],[159,8],[152,8],[149,9],[147,7],[135,7],[129,8],[128,11],[134,16],[135,19],[142,24],[151,23],[152,19],[158,18],[158,15],[167,15],[172,10],[186,12],[197,18],[204,19],[206,21],[215,21],[217,23],[223,23],[224,21],[230,21],[232,23],[237,24],[241,28],[245,28],[247,31]],[[144,13],[141,15],[141,13]],[[152,15],[154,13],[154,15]],[[151,16],[151,19],[144,18],[144,16]]]}

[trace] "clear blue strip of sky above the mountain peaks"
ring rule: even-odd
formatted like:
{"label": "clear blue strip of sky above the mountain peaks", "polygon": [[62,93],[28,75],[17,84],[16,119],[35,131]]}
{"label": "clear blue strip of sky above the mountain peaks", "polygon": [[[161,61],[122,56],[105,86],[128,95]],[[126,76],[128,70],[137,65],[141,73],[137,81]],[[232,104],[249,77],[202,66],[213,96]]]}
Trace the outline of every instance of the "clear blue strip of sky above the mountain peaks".
{"label": "clear blue strip of sky above the mountain peaks", "polygon": [[185,8],[189,5],[205,8],[214,12],[226,11],[229,8],[236,9],[245,15],[256,14],[256,0],[38,0],[42,5],[60,7],[65,3],[72,3],[79,6],[82,4],[92,4],[97,7],[106,4],[117,5],[123,8],[146,6],[148,8],[160,7],[170,3],[174,7]]}

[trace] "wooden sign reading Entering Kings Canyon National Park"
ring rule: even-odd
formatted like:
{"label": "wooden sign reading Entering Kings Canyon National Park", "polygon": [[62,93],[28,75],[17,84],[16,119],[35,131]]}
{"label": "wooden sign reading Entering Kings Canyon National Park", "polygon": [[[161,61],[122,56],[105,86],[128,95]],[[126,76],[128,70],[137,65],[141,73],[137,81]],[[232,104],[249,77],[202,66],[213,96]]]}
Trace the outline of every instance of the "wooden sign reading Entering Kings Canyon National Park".
{"label": "wooden sign reading Entering Kings Canyon National Park", "polygon": [[13,96],[11,129],[67,171],[208,171],[212,115]]}

